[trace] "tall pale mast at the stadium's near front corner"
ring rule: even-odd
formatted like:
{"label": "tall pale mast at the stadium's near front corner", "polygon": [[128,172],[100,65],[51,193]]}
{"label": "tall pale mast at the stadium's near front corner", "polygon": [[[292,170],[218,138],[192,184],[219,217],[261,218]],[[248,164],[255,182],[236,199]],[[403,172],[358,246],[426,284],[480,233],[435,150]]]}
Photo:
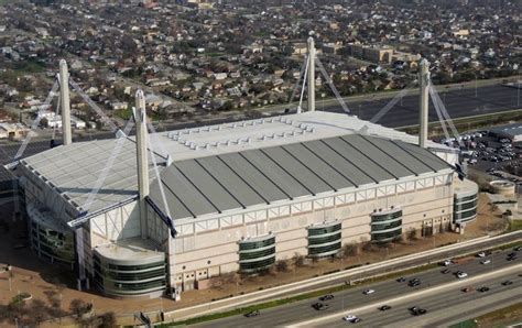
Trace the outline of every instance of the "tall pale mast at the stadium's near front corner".
{"label": "tall pale mast at the stadium's near front corner", "polygon": [[145,197],[149,196],[149,157],[146,151],[146,113],[145,97],[142,90],[135,92],[135,146],[138,161],[138,190],[140,207],[141,238],[146,239],[146,204]]}

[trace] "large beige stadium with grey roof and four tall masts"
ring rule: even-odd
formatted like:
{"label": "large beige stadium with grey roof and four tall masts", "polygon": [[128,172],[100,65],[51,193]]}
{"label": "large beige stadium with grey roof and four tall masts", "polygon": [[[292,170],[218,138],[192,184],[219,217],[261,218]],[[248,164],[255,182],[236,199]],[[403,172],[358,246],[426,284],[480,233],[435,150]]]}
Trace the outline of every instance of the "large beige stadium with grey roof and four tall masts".
{"label": "large beige stadium with grey roof and four tall masts", "polygon": [[148,134],[141,91],[134,118],[135,136],[70,143],[64,133],[64,145],[17,170],[32,248],[77,271],[78,288],[177,298],[224,273],[456,230],[476,216],[478,188],[457,178],[458,153],[423,133],[308,106]]}

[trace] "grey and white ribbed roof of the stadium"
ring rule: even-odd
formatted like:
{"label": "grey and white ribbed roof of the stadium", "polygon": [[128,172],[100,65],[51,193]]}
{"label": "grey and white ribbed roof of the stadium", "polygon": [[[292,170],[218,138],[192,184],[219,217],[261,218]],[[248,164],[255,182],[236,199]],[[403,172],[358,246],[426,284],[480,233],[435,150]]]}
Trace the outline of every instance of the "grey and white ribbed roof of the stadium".
{"label": "grey and white ribbed roof of the stadium", "polygon": [[[324,111],[161,132],[151,134],[150,140],[160,172],[165,170],[166,154],[175,161],[162,173],[174,218],[330,193],[448,167],[428,151],[412,145],[417,142],[414,135]],[[431,141],[428,145],[448,149]],[[119,147],[121,151],[111,160]],[[151,154],[152,184],[155,173]],[[382,163],[387,163],[385,167]],[[61,194],[78,214],[101,210],[138,194],[134,138],[62,145],[26,157],[21,164]],[[106,178],[101,183],[104,172]],[[253,185],[244,186],[249,184]],[[98,185],[98,194],[89,197]],[[157,188],[157,184],[152,185],[151,198],[155,198]],[[87,206],[89,199],[93,203]]]}

